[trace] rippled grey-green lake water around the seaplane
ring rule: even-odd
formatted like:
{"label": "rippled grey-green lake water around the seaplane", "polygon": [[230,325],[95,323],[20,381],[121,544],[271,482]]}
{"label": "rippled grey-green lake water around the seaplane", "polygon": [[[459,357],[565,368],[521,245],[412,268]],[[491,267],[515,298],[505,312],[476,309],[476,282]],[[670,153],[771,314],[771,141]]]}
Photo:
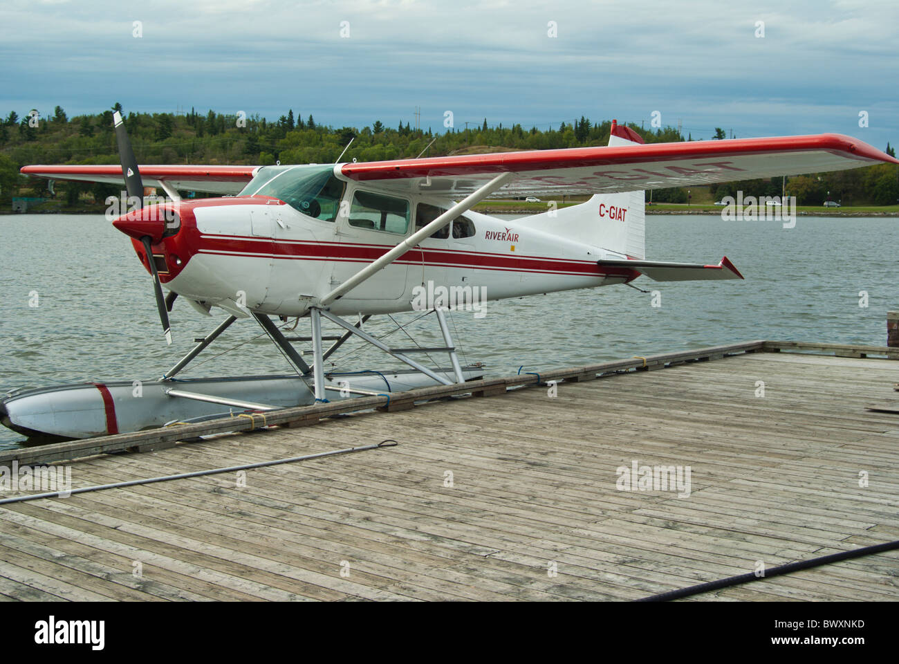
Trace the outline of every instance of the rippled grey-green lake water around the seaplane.
{"label": "rippled grey-green lake water around the seaplane", "polygon": [[[514,219],[514,217],[506,217]],[[488,374],[595,363],[632,355],[779,339],[886,344],[886,311],[899,306],[893,270],[895,218],[797,218],[722,221],[716,216],[646,218],[646,255],[654,260],[717,263],[728,256],[743,282],[654,283],[555,293],[490,302],[487,315],[454,312],[450,319],[463,359],[482,361]],[[128,238],[102,216],[0,216],[0,393],[80,381],[153,379],[225,319],[204,318],[181,301],[171,314],[174,344],[166,346],[152,282]],[[37,293],[37,307],[31,307]],[[867,292],[867,306],[859,306]],[[216,310],[213,310],[214,312]],[[417,314],[395,315],[400,323]],[[366,329],[395,328],[387,317]],[[433,317],[410,332],[422,345],[440,345]],[[250,321],[238,321],[195,360],[186,376],[290,372]],[[298,333],[307,335],[307,321]],[[394,345],[412,345],[403,332]],[[401,341],[405,338],[405,342]],[[236,349],[222,354],[233,346]],[[395,360],[347,344],[341,366],[394,367]],[[210,359],[206,359],[210,358]],[[200,364],[201,361],[204,363]],[[443,358],[440,358],[443,362]],[[22,436],[0,427],[0,449]]]}

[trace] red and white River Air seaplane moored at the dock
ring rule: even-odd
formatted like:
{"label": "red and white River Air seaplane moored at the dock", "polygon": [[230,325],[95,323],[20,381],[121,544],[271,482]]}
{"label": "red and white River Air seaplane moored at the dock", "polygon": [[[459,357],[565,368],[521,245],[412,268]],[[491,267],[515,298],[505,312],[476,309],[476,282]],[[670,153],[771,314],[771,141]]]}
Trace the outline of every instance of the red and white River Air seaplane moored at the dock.
{"label": "red and white River Air seaplane moored at the dock", "polygon": [[[640,276],[743,279],[726,256],[717,263],[648,260],[645,191],[899,163],[839,134],[645,144],[612,121],[602,147],[369,163],[138,166],[118,112],[113,122],[120,165],[24,166],[22,173],[124,182],[137,203],[112,225],[130,238],[152,278],[168,343],[175,299],[227,318],[140,390],[136,381],[107,381],[11,391],[0,419],[23,435],[113,435],[462,383],[483,369],[460,365],[446,310]],[[162,189],[165,202],[145,205],[145,185]],[[558,207],[563,195],[589,199]],[[488,196],[541,197],[547,211],[508,221],[472,210]],[[397,348],[365,329],[372,316],[412,310],[433,313],[445,345]],[[292,373],[177,377],[238,319],[258,323]],[[293,328],[306,319],[308,336],[285,334],[291,319]],[[323,324],[339,334],[324,335]],[[351,337],[408,368],[334,372],[328,358]],[[311,348],[298,350],[298,342]],[[413,356],[422,351],[446,353],[449,366],[425,365]]]}

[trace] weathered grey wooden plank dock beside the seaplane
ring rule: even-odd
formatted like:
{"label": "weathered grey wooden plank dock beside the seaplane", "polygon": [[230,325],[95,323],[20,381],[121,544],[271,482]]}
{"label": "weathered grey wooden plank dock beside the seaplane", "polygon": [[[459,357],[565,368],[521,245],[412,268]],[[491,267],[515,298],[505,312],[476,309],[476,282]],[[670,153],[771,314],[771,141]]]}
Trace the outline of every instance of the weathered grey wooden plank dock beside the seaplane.
{"label": "weathered grey wooden plank dock beside the seaplane", "polygon": [[[5,504],[0,599],[631,600],[892,542],[899,414],[868,407],[899,404],[899,365],[871,357],[895,352],[749,342],[416,390],[389,413],[370,409],[383,399],[354,414],[295,408],[265,429],[97,454],[69,464],[73,488],[398,443]],[[535,384],[549,380],[555,397]],[[0,465],[172,442],[134,436]],[[689,466],[689,496],[620,489],[634,462]],[[690,599],[895,601],[899,552]]]}

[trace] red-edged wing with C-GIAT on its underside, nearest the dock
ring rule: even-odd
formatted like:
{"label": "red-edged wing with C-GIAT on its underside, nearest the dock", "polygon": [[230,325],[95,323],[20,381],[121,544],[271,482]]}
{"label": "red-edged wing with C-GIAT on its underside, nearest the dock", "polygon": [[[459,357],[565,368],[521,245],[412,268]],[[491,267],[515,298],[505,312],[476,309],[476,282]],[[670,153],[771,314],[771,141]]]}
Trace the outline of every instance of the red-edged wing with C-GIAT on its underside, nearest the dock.
{"label": "red-edged wing with C-GIAT on its underside, nearest the dock", "polygon": [[380,189],[452,196],[510,172],[515,177],[494,195],[562,195],[801,175],[881,162],[899,164],[858,139],[817,134],[398,159],[343,164],[340,172]]}

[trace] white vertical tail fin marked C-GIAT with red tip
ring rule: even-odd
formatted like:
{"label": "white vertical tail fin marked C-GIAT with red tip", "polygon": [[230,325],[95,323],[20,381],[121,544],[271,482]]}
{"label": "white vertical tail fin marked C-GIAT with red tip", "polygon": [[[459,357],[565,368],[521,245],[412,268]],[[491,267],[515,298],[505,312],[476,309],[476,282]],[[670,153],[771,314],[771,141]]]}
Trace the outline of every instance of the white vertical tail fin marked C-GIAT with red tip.
{"label": "white vertical tail fin marked C-GIAT with red tip", "polygon": [[[609,145],[633,145],[643,139],[636,131],[612,121]],[[519,220],[524,226],[600,247],[606,251],[645,258],[645,193],[597,193],[589,201],[553,213]]]}

